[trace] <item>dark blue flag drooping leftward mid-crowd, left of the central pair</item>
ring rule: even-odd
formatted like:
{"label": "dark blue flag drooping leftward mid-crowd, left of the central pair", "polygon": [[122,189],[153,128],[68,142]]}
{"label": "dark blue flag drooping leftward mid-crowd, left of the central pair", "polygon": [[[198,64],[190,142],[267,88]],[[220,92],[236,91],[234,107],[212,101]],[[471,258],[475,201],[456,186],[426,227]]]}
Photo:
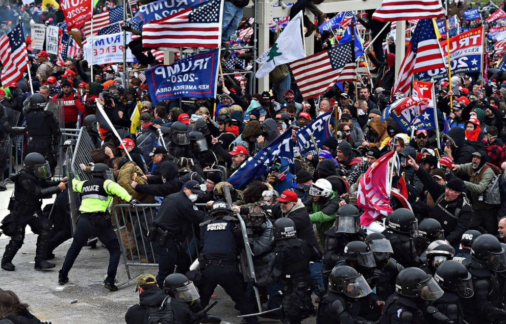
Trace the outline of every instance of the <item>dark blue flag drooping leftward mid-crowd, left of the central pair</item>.
{"label": "dark blue flag drooping leftward mid-crowd, left of the central pair", "polygon": [[278,158],[286,158],[292,173],[295,173],[293,158],[292,131],[288,129],[269,146],[261,149],[255,156],[249,157],[234,172],[227,182],[235,188],[242,188],[261,176],[265,175]]}

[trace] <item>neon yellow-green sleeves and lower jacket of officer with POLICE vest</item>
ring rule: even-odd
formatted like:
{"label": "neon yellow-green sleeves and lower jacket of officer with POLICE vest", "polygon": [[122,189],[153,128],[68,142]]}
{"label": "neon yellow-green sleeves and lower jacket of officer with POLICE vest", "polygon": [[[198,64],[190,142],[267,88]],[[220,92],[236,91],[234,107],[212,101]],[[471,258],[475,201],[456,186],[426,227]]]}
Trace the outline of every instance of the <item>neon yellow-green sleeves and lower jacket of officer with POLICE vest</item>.
{"label": "neon yellow-green sleeves and lower jacket of officer with POLICE vest", "polygon": [[[72,190],[74,192],[82,194],[83,185],[87,182],[86,181],[80,181],[76,178],[72,179]],[[79,207],[79,211],[81,212],[104,212],[111,209],[112,206],[112,195],[118,196],[119,198],[123,199],[124,201],[130,201],[132,200],[132,196],[124,190],[122,186],[117,184],[116,182],[112,180],[105,180],[103,189],[107,193],[107,197],[102,198],[86,198],[82,199],[81,206]]]}

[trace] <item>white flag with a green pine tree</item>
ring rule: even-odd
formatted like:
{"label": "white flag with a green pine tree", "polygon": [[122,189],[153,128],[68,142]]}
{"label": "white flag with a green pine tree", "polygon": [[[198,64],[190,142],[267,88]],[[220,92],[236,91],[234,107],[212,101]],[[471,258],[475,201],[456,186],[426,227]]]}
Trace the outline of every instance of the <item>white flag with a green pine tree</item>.
{"label": "white flag with a green pine tree", "polygon": [[255,76],[263,78],[276,66],[306,57],[302,43],[302,11],[295,15],[271,48],[266,50],[255,62],[262,64]]}

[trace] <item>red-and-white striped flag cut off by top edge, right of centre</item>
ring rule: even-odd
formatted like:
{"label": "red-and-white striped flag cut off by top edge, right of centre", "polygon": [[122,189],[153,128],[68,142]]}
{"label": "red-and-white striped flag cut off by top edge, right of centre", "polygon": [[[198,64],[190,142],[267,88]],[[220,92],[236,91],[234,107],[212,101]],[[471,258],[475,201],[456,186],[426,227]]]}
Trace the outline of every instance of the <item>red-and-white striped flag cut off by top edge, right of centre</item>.
{"label": "red-and-white striped flag cut off by top edge, right of centre", "polygon": [[380,21],[426,19],[444,16],[441,0],[383,0],[372,14]]}

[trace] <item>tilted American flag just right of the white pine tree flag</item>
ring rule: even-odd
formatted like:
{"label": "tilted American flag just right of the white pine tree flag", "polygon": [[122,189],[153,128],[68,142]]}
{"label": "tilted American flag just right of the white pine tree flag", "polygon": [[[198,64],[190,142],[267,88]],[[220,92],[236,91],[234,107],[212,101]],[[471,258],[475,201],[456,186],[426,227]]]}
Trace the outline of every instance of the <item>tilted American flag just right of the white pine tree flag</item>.
{"label": "tilted American flag just right of the white pine tree flag", "polygon": [[336,82],[357,80],[355,50],[351,42],[292,62],[290,68],[304,99],[319,96]]}

